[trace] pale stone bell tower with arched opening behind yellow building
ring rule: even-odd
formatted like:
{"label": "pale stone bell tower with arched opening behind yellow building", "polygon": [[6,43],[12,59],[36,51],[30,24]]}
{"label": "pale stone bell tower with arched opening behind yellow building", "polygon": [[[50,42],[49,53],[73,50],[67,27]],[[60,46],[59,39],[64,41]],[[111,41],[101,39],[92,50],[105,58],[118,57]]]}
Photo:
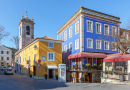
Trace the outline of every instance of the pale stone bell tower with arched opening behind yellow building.
{"label": "pale stone bell tower with arched opening behind yellow building", "polygon": [[19,50],[34,39],[34,21],[29,19],[26,13],[19,22]]}

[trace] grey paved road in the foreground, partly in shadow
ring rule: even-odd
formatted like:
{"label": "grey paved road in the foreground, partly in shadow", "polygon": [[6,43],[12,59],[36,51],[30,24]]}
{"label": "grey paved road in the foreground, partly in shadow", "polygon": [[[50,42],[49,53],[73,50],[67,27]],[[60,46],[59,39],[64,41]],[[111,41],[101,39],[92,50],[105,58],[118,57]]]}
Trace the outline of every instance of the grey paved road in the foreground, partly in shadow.
{"label": "grey paved road in the foreground, partly in shadow", "polygon": [[59,83],[54,80],[35,80],[0,71],[0,90],[129,90],[130,85],[100,83]]}

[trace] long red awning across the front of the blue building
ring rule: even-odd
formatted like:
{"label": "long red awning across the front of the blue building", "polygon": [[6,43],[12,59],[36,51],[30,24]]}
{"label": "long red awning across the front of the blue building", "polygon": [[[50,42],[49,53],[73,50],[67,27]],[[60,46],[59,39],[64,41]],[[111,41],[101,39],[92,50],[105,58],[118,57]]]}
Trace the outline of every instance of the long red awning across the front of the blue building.
{"label": "long red awning across the front of the blue building", "polygon": [[87,52],[81,52],[76,53],[68,56],[68,59],[73,58],[81,58],[81,57],[89,57],[89,58],[106,58],[107,55],[103,53],[87,53]]}

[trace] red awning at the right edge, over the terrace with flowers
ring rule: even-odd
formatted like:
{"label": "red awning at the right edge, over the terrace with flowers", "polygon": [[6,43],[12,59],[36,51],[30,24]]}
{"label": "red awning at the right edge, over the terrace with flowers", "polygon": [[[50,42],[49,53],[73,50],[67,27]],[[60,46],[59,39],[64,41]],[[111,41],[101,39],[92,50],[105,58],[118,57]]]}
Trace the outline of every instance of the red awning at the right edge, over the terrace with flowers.
{"label": "red awning at the right edge, over the terrace with flowers", "polygon": [[108,56],[107,58],[103,59],[103,62],[113,62],[113,61],[127,61],[130,60],[130,54],[118,54],[118,55],[112,55]]}

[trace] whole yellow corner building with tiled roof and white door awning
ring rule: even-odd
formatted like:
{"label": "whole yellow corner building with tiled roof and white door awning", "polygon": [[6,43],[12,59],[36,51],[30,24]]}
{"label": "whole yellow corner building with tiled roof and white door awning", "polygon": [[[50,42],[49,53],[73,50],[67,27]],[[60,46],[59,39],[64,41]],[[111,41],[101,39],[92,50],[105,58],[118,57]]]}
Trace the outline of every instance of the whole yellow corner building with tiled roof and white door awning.
{"label": "whole yellow corner building with tiled roof and white door awning", "polygon": [[[20,58],[20,72],[34,78],[53,78],[58,75],[58,64],[62,63],[62,41],[48,36],[36,38],[16,54]],[[41,60],[38,68],[38,60]]]}

